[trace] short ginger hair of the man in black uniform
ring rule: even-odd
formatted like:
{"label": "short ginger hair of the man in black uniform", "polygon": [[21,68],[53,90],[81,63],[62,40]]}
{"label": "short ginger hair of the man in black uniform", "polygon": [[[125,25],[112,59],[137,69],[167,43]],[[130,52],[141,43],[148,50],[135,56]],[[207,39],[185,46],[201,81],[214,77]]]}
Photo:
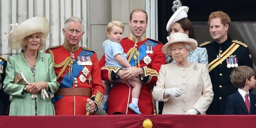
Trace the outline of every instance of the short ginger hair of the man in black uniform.
{"label": "short ginger hair of the man in black uniform", "polygon": [[[209,18],[208,18],[208,26],[210,26],[210,21],[212,19],[215,19],[215,18],[220,18],[221,19],[221,23],[223,24],[223,26],[228,24],[228,26],[230,27],[230,23],[231,23],[230,17],[228,16],[227,13],[225,13],[223,11],[214,11],[214,12],[212,12],[209,15]],[[228,29],[229,29],[229,27],[228,27]]]}

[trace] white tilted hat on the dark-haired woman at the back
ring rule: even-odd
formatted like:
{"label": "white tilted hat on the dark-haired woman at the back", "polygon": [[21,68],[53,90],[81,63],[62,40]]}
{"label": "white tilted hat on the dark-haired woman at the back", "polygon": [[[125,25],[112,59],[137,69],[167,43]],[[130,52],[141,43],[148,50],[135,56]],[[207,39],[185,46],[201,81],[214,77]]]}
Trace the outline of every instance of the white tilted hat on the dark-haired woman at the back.
{"label": "white tilted hat on the dark-haired woman at the back", "polygon": [[176,21],[187,18],[187,12],[188,12],[187,6],[181,6],[177,11],[175,11],[172,15],[172,17],[169,19],[167,25],[166,25],[166,31],[169,32],[171,29],[171,25],[175,23]]}

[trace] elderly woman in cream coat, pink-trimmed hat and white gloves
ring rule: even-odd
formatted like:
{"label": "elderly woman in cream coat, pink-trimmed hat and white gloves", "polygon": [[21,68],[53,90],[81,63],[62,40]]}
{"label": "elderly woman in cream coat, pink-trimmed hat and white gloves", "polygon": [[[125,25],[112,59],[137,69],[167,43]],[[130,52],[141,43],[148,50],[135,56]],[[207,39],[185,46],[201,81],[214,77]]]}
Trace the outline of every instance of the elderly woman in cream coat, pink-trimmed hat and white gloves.
{"label": "elderly woman in cream coat, pink-trimmed hat and white gloves", "polygon": [[213,99],[208,69],[187,59],[197,41],[184,33],[173,33],[168,41],[162,52],[176,63],[161,66],[153,97],[164,102],[162,114],[205,114]]}

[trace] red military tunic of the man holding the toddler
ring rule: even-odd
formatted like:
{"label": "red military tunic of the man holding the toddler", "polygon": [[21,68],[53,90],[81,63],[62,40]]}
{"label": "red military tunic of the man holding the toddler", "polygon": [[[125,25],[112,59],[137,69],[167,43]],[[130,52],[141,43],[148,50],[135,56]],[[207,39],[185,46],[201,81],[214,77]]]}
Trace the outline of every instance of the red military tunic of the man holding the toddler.
{"label": "red military tunic of the man holding the toddler", "polygon": [[[138,43],[135,42],[138,40]],[[144,61],[143,59],[140,60],[140,68],[143,68],[145,77],[142,79],[142,87],[140,90],[139,95],[139,111],[143,115],[152,115],[153,112],[153,103],[152,103],[152,97],[150,88],[152,89],[153,86],[156,85],[157,78],[158,78],[158,72],[160,70],[160,66],[162,64],[165,64],[165,55],[162,53],[162,44],[158,41],[146,38],[145,35],[142,35],[141,37],[138,37],[136,39],[135,36],[130,34],[129,37],[124,38],[120,44],[122,45],[124,49],[124,53],[127,53],[131,48],[135,47],[137,50],[141,45],[145,45],[145,42],[155,42],[156,45],[154,47],[150,48],[150,43],[148,43],[147,49],[142,49],[140,51],[140,55],[144,53],[144,56],[142,56],[145,60],[145,58],[150,57],[151,61]],[[152,44],[152,43],[151,43]],[[146,50],[152,49],[153,53],[146,53]],[[148,55],[148,57],[145,57]],[[128,57],[127,57],[128,59]],[[149,62],[146,64],[145,62]],[[105,55],[102,56],[102,58],[99,61],[99,65],[101,69],[101,77],[102,80],[106,81],[113,81],[116,80],[116,71],[109,70],[105,66]],[[131,63],[130,63],[131,64]],[[105,66],[105,67],[104,67]],[[134,65],[132,65],[134,66]],[[138,65],[137,65],[138,67]],[[146,68],[147,67],[147,68]],[[107,100],[107,112],[109,115],[114,114],[115,112],[123,113],[123,114],[136,114],[134,111],[128,108],[128,105],[131,103],[132,92],[133,87],[128,87],[126,84],[123,83],[117,83],[115,84],[109,93],[108,100]]]}

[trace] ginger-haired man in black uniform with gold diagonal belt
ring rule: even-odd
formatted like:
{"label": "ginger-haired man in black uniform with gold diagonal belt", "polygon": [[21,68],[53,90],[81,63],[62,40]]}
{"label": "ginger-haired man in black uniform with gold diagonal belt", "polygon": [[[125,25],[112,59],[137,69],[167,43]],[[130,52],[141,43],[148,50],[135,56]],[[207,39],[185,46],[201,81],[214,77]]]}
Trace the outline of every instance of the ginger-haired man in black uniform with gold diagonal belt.
{"label": "ginger-haired man in black uniform with gold diagonal belt", "polygon": [[252,66],[247,45],[237,40],[231,41],[228,30],[231,20],[223,11],[212,12],[208,19],[209,32],[213,42],[207,41],[200,47],[206,48],[209,61],[209,75],[213,86],[213,101],[206,114],[223,115],[227,96],[237,89],[230,82],[230,73],[237,66]]}

